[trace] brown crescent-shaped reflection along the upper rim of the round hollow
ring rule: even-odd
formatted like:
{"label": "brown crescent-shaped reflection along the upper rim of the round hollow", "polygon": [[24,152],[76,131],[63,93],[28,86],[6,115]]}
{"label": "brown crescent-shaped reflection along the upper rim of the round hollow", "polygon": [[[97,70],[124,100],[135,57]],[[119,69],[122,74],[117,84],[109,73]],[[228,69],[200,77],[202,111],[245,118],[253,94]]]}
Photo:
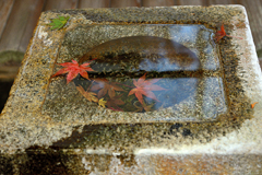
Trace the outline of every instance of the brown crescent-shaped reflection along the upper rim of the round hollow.
{"label": "brown crescent-shaped reflection along the upper rim of the round hollow", "polygon": [[[170,63],[176,63],[179,67],[190,66],[198,60],[194,52],[175,40],[156,36],[131,36],[112,39],[92,48],[80,59],[80,62],[88,61],[91,58],[106,59],[106,56],[112,56],[114,61],[116,61],[116,59],[121,58],[120,55],[132,52],[145,56],[160,55],[168,58]],[[154,61],[154,58],[151,58]],[[122,59],[119,59],[117,63],[121,61]]]}

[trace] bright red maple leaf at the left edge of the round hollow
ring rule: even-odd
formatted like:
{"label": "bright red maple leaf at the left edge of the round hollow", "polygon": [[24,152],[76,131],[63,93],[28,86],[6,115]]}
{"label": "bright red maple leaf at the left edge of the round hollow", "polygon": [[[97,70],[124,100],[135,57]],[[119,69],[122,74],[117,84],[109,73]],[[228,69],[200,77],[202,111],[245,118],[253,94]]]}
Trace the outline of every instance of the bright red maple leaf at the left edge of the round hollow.
{"label": "bright red maple leaf at the left edge of the round hollow", "polygon": [[[63,62],[63,63],[58,63],[62,67],[59,71],[57,71],[53,75],[51,75],[51,78],[56,77],[56,75],[60,75],[60,74],[64,74],[68,73],[67,75],[67,84],[72,81],[74,78],[76,78],[76,75],[80,73],[83,78],[88,79],[88,73],[86,71],[94,71],[91,67],[90,67],[90,62],[87,63],[83,63],[81,66],[79,66],[78,61],[72,60],[72,62]],[[90,79],[88,79],[90,80]]]}

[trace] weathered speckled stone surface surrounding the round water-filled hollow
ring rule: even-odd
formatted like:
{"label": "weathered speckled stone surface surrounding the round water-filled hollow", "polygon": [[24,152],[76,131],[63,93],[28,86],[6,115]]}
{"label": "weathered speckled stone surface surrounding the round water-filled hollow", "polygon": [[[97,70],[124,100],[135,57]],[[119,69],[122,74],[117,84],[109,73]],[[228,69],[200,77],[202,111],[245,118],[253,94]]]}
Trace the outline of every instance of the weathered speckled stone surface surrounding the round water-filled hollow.
{"label": "weathered speckled stone surface surrounding the round water-filled hollow", "polygon": [[[50,31],[50,19],[60,15],[70,16],[69,22],[62,30]],[[215,43],[213,36],[222,23],[228,34],[243,39],[225,37]],[[191,31],[181,37],[179,32],[171,36],[163,32],[171,27],[176,33],[182,24],[207,33]],[[213,71],[202,72],[203,78],[214,77],[198,84],[202,95],[154,112],[114,112],[87,102],[73,82],[50,79],[58,69],[56,62],[84,62],[92,48],[98,51],[88,57],[108,50],[103,48],[109,46],[99,47],[103,43],[140,35],[176,39],[193,51],[202,70]],[[191,36],[199,39],[190,42]],[[203,45],[213,49],[203,49]],[[240,5],[45,12],[0,116],[0,171],[261,174],[261,78]],[[251,108],[254,102],[259,103]],[[211,114],[216,115],[209,117]]]}

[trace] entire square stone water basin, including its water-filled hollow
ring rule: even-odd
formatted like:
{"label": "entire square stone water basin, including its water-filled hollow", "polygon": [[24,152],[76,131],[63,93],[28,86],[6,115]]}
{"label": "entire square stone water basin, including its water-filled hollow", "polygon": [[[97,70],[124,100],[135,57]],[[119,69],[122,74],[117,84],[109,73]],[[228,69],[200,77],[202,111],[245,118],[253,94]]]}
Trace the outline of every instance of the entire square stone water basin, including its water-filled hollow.
{"label": "entire square stone water basin, including its water-filled hollow", "polygon": [[[247,19],[240,5],[44,12],[0,115],[0,173],[261,174]],[[88,78],[53,75],[75,62]]]}

